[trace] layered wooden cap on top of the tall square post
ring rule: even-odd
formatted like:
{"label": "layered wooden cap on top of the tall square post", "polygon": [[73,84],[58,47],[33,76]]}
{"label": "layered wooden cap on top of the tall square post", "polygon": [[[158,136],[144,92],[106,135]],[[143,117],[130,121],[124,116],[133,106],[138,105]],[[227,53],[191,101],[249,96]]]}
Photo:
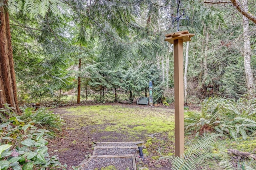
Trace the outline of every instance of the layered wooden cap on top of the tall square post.
{"label": "layered wooden cap on top of the tall square post", "polygon": [[183,42],[191,41],[191,37],[193,37],[195,34],[189,33],[188,30],[185,31],[178,31],[175,33],[169,33],[165,35],[164,41],[168,41],[169,43],[173,44],[174,40],[176,39],[182,39]]}

